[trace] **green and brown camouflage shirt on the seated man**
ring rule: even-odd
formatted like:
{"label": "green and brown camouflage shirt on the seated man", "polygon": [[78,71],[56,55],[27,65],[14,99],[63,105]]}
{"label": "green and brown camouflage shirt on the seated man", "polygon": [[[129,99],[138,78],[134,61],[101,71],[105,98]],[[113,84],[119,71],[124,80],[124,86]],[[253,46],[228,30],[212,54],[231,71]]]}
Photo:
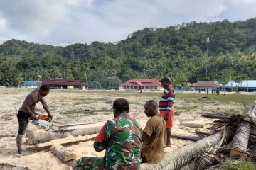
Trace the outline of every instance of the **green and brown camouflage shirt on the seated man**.
{"label": "green and brown camouflage shirt on the seated man", "polygon": [[142,129],[132,116],[122,113],[108,120],[97,135],[95,150],[106,149],[105,169],[139,169],[142,162]]}

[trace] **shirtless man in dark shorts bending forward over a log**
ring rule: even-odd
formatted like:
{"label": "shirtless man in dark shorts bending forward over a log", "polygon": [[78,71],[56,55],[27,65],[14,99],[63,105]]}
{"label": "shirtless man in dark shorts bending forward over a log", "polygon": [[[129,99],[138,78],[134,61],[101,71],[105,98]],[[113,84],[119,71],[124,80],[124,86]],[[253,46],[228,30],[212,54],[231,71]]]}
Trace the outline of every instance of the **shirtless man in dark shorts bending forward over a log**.
{"label": "shirtless man in dark shorts bending forward over a log", "polygon": [[49,93],[50,89],[46,85],[42,85],[39,90],[34,90],[28,96],[26,96],[25,101],[23,102],[21,108],[18,110],[17,118],[18,118],[18,135],[16,137],[18,154],[20,156],[26,154],[22,152],[22,137],[26,132],[26,128],[28,126],[28,120],[35,120],[38,118],[38,113],[35,112],[36,103],[39,101],[42,103],[43,108],[48,113],[48,116],[52,118],[53,116],[50,114],[46,101],[44,101],[43,97],[45,97]]}

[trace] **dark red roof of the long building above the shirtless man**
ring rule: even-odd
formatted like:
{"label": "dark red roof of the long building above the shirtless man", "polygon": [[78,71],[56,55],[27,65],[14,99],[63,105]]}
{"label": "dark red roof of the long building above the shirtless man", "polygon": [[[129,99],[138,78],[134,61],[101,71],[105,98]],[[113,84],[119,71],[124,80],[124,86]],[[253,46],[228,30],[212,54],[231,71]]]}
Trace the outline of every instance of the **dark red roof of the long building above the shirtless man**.
{"label": "dark red roof of the long building above the shirtless man", "polygon": [[85,83],[81,83],[79,80],[61,79],[61,78],[42,79],[42,84],[63,85],[63,86],[88,86]]}

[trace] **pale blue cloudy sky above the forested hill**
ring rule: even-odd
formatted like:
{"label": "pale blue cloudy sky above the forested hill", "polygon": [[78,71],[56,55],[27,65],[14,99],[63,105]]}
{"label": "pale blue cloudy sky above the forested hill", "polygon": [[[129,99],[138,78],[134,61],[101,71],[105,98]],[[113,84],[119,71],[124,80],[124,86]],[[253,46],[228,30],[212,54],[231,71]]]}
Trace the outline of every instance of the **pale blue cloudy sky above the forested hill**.
{"label": "pale blue cloudy sky above the forested hill", "polygon": [[0,0],[0,44],[118,42],[144,28],[256,17],[256,0]]}

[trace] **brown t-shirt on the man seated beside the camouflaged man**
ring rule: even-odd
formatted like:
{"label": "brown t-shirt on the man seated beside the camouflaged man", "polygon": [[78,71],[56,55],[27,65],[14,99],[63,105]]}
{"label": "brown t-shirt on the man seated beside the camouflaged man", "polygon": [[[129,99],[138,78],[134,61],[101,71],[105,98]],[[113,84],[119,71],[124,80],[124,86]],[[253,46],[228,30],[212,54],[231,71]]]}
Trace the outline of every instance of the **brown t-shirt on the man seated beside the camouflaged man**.
{"label": "brown t-shirt on the man seated beside the camouflaged man", "polygon": [[157,164],[164,158],[164,147],[166,141],[166,124],[164,118],[155,115],[150,118],[143,130],[147,137],[142,146],[142,155],[146,162]]}

